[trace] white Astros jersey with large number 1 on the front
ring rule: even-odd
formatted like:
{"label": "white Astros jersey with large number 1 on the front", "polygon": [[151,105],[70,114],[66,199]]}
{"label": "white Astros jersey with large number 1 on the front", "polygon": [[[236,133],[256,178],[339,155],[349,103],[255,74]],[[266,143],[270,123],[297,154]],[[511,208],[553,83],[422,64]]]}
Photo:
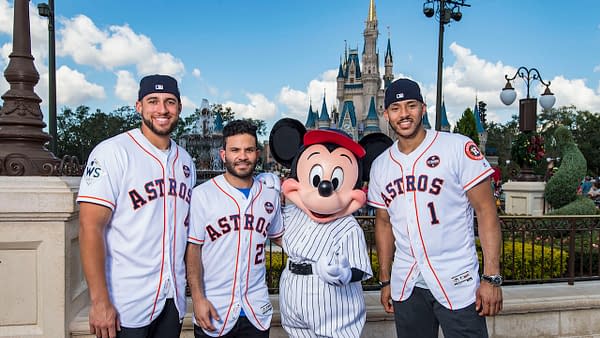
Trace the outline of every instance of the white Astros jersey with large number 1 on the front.
{"label": "white Astros jersey with large number 1 on the front", "polygon": [[475,302],[479,262],[467,191],[492,173],[469,138],[435,131],[408,155],[396,141],[375,159],[368,203],[387,209],[393,226],[392,299],[406,300],[420,272],[444,307]]}

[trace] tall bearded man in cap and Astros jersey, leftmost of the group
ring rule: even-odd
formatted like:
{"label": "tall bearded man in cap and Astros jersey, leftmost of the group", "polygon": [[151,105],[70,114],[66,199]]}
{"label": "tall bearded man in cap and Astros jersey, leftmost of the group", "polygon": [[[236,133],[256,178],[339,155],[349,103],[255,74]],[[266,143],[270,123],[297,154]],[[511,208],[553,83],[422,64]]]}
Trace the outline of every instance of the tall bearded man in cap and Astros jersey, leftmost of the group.
{"label": "tall bearded man in cap and Astros jersey, leftmost of the group", "polygon": [[169,135],[177,81],[140,81],[133,129],[90,154],[79,188],[81,262],[97,337],[179,337],[185,315],[187,215],[196,170]]}

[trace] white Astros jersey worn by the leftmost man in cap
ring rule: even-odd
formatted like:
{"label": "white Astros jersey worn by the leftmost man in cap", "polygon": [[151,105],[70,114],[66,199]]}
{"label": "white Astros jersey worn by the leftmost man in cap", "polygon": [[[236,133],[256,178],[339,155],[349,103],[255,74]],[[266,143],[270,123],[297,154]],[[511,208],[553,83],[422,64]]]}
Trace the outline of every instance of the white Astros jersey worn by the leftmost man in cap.
{"label": "white Astros jersey worn by the leftmost man in cap", "polygon": [[89,156],[77,202],[112,210],[106,227],[106,280],[121,325],[150,324],[167,298],[185,304],[186,221],[196,170],[171,140],[164,152],[139,129],[100,143]]}

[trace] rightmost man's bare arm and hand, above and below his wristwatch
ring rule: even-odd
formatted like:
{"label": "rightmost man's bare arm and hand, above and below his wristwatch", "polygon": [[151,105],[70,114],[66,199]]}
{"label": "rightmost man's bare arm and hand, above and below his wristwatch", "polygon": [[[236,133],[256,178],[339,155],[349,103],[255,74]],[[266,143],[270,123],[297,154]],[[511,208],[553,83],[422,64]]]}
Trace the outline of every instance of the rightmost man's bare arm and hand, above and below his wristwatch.
{"label": "rightmost man's bare arm and hand, above and below his wristwatch", "polygon": [[[499,274],[502,234],[490,179],[487,178],[471,188],[467,197],[477,215],[479,240],[483,250],[483,273]],[[502,289],[482,281],[477,290],[475,306],[481,316],[496,315],[502,310]]]}

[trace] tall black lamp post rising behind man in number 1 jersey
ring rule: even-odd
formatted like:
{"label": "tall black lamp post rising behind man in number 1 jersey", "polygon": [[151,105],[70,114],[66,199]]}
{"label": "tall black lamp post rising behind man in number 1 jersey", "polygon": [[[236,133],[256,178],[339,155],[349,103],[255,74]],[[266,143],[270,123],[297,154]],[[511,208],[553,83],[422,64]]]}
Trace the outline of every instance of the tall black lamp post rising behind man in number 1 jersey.
{"label": "tall black lamp post rising behind man in number 1 jersey", "polygon": [[437,74],[437,94],[435,98],[435,130],[442,129],[442,67],[444,63],[444,25],[451,20],[460,21],[462,19],[462,6],[471,7],[465,0],[426,0],[423,4],[423,14],[435,18],[440,23],[438,34],[438,74]]}

